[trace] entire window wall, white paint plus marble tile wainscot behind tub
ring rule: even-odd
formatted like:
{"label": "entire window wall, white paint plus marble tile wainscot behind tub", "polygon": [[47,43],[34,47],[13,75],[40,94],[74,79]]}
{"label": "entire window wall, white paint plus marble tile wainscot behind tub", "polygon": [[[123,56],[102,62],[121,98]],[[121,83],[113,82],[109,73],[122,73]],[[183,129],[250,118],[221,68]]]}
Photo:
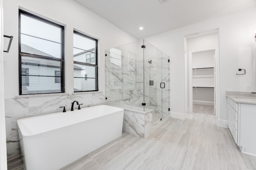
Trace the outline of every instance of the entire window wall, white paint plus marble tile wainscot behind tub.
{"label": "entire window wall, white paint plus marble tile wainscot behind tub", "polygon": [[[18,142],[17,120],[36,115],[62,111],[60,106],[69,110],[71,102],[77,100],[82,107],[102,104],[105,102],[105,50],[111,47],[137,41],[128,33],[112,23],[104,20],[92,11],[84,8],[73,0],[4,0],[4,34],[14,37],[8,54],[4,54],[5,78],[5,120],[7,154],[20,152]],[[30,10],[38,16],[57,21],[65,26],[65,88],[68,94],[40,95],[36,97],[19,95],[18,83],[18,9]],[[73,30],[77,29],[98,40],[99,52],[99,93],[73,93]],[[75,106],[74,109],[77,109]],[[1,119],[2,120],[2,119]]]}

